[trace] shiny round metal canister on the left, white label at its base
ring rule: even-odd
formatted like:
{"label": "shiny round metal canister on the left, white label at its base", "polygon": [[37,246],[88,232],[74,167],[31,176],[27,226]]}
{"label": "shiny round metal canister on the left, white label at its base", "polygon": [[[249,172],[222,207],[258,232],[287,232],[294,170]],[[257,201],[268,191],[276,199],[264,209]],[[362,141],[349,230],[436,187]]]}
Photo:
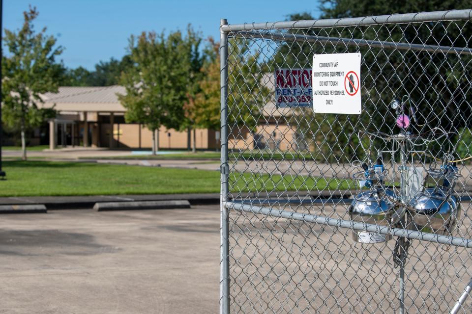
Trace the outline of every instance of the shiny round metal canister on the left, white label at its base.
{"label": "shiny round metal canister on the left, white label at its base", "polygon": [[[392,190],[385,190],[388,198],[393,199]],[[375,190],[360,192],[356,195],[349,208],[351,220],[374,225],[389,226],[394,206],[386,196],[381,197]],[[354,241],[360,243],[380,243],[388,241],[391,235],[382,235],[375,232],[353,232]]]}

